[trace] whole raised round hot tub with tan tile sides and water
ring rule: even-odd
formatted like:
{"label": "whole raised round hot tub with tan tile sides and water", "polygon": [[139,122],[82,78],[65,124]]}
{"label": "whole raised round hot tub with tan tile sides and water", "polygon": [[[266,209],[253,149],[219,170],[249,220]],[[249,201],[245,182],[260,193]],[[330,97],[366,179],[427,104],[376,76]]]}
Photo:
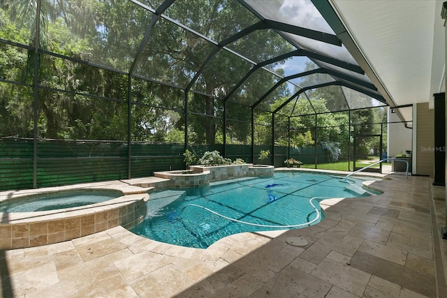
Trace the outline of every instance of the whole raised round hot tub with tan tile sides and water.
{"label": "whole raised round hot tub with tan tile sides and water", "polygon": [[0,249],[54,244],[117,225],[132,228],[146,214],[147,190],[111,181],[99,188],[84,184],[0,193]]}

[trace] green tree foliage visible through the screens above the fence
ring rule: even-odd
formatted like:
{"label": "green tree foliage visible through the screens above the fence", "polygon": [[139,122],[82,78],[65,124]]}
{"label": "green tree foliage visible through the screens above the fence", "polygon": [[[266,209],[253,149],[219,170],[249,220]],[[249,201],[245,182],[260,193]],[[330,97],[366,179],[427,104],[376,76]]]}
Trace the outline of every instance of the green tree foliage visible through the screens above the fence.
{"label": "green tree foliage visible through the screens above the fence", "polygon": [[[0,36],[21,45],[34,45],[36,26],[35,1],[3,1],[0,8]],[[223,143],[223,111],[226,107],[227,144],[251,143],[251,108],[278,78],[265,70],[257,70],[231,98],[226,98],[252,67],[228,51],[221,50],[207,61],[191,90],[191,82],[214,47],[204,38],[178,27],[163,18],[151,31],[146,47],[130,80],[129,72],[135,53],[151,22],[152,15],[131,1],[41,1],[41,26],[37,42],[45,51],[38,60],[38,137],[57,139],[127,140],[128,105],[131,100],[131,141],[183,143],[185,101],[189,110],[188,137],[190,144]],[[198,0],[176,1],[169,8],[173,20],[191,26],[203,36],[217,42],[258,22],[238,1]],[[265,61],[294,50],[284,38],[272,30],[258,30],[231,45],[254,61]],[[259,48],[263,50],[260,51]],[[34,51],[0,43],[0,136],[34,135],[34,90],[32,87]],[[73,59],[62,59],[58,55]],[[87,64],[76,61],[88,61]],[[284,75],[278,61],[265,66]],[[104,66],[97,68],[95,65]],[[309,63],[306,70],[316,68]],[[120,70],[117,73],[108,69]],[[26,71],[25,71],[26,70]],[[315,74],[302,79],[303,86],[326,80],[327,75]],[[160,81],[158,84],[143,80]],[[6,82],[17,82],[9,84]],[[25,85],[23,85],[25,84]],[[28,84],[28,85],[26,85]],[[172,87],[177,86],[180,88]],[[129,88],[130,87],[130,88]],[[131,92],[129,94],[129,91]],[[346,93],[349,90],[343,89]],[[315,141],[337,142],[347,151],[349,135],[347,113],[318,114],[346,108],[340,87],[306,91],[284,106],[275,116],[275,144],[288,144],[288,117],[291,117],[291,147],[298,149]],[[286,84],[272,91],[255,110],[255,144],[272,144],[272,114],[263,110],[277,109],[289,98]],[[370,98],[353,92],[351,103],[367,105]],[[226,98],[224,102],[222,99]],[[309,98],[309,100],[307,99]],[[310,101],[310,103],[309,103]],[[311,105],[312,103],[312,105]],[[282,116],[281,116],[281,115]],[[378,126],[362,126],[365,122],[386,117],[383,109],[353,112],[351,121],[356,133],[377,133]],[[315,126],[318,126],[316,133]],[[386,131],[386,130],[385,130]],[[315,135],[318,135],[316,139]],[[374,141],[360,142],[363,149],[379,146]],[[383,140],[386,143],[386,140]]]}

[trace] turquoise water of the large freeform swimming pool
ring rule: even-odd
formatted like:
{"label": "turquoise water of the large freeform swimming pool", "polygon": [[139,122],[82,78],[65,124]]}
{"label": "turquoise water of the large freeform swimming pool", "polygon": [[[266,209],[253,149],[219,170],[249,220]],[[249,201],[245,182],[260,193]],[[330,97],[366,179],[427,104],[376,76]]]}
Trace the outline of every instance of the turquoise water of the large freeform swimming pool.
{"label": "turquoise water of the large freeform swimming pool", "polygon": [[[309,203],[311,198],[371,195],[361,188],[364,180],[349,179],[351,183],[347,184],[340,179],[328,174],[275,172],[272,178],[247,177],[186,191],[149,193],[147,216],[131,231],[169,244],[207,248],[239,232],[284,230],[284,225],[308,226],[309,221],[321,221]],[[319,200],[323,198],[313,201],[318,211]]]}

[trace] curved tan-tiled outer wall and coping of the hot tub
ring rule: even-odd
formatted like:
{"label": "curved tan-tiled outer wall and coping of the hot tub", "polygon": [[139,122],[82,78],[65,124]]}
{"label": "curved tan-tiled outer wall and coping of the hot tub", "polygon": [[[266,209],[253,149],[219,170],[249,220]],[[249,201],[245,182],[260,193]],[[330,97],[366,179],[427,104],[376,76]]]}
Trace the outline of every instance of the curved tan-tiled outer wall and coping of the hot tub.
{"label": "curved tan-tiled outer wall and coping of the hot tub", "polygon": [[52,211],[0,213],[0,249],[54,244],[122,225],[132,228],[146,215],[147,193],[124,195],[87,206]]}

